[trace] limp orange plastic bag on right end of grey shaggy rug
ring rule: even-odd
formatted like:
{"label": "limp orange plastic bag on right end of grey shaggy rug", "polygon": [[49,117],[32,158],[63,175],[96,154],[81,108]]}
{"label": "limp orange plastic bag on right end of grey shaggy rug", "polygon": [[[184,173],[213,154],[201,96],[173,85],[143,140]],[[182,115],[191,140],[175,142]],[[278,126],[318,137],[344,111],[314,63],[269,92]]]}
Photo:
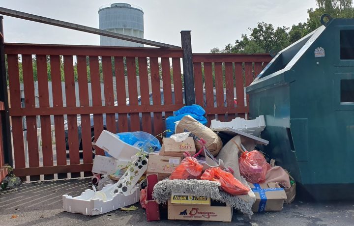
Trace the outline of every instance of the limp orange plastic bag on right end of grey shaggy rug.
{"label": "limp orange plastic bag on right end of grey shaggy rug", "polygon": [[249,192],[249,188],[237,180],[233,174],[226,172],[219,167],[205,170],[201,179],[220,182],[221,189],[233,196],[244,195]]}

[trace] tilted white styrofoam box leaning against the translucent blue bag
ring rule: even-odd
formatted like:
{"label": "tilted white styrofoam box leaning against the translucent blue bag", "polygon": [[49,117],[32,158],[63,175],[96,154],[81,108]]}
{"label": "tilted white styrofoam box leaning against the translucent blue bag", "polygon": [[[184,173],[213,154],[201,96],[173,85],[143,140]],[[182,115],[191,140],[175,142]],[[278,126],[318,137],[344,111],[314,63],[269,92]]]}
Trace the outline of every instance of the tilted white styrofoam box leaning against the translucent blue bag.
{"label": "tilted white styrofoam box leaning against the translucent blue bag", "polygon": [[131,157],[140,151],[140,148],[123,142],[117,135],[107,130],[102,131],[95,145],[122,162],[131,162]]}

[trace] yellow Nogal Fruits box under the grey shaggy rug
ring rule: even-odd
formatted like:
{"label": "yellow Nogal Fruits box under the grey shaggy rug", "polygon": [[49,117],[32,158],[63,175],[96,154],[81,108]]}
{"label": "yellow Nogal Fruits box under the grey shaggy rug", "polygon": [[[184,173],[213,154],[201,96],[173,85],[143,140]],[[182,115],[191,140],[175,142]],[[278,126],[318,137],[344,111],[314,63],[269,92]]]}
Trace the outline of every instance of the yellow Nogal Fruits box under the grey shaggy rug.
{"label": "yellow Nogal Fruits box under the grey shaggy rug", "polygon": [[171,204],[186,205],[206,205],[210,206],[210,198],[206,196],[197,196],[192,193],[184,193],[181,191],[172,191]]}

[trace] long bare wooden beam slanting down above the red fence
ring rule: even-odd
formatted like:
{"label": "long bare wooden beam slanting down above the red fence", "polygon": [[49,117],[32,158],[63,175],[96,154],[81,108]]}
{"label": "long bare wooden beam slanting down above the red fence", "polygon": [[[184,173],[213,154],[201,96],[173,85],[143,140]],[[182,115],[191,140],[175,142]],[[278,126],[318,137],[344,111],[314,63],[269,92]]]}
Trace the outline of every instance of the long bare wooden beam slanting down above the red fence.
{"label": "long bare wooden beam slanting down above the red fence", "polygon": [[180,48],[178,46],[169,45],[166,43],[155,42],[155,41],[151,41],[148,39],[133,37],[133,36],[125,35],[125,34],[118,34],[118,33],[107,31],[107,30],[101,30],[98,28],[92,28],[92,27],[87,27],[87,26],[83,26],[83,25],[79,25],[79,24],[73,24],[73,23],[69,23],[69,22],[65,22],[65,21],[51,19],[48,17],[41,17],[41,16],[37,16],[34,14],[20,12],[20,11],[7,9],[7,8],[3,8],[3,7],[0,7],[0,14],[10,16],[10,17],[16,17],[16,18],[20,18],[20,19],[24,19],[24,20],[34,21],[34,22],[38,22],[38,23],[53,25],[53,26],[57,26],[57,27],[61,27],[61,28],[80,30],[80,31],[84,31],[84,32],[92,33],[92,34],[99,34],[99,35],[107,36],[107,37],[111,37],[111,38],[118,38],[118,39],[125,40],[125,41],[137,42],[137,43],[141,43],[141,44],[145,44],[145,45],[149,45],[149,46],[156,46],[156,47],[163,47],[163,48]]}

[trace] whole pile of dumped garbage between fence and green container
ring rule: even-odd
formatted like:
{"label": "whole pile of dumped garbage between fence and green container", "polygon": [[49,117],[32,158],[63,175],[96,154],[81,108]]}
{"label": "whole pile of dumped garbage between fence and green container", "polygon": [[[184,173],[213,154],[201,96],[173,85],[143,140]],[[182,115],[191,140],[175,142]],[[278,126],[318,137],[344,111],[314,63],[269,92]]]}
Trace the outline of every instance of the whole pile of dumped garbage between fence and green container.
{"label": "whole pile of dumped garbage between fence and green container", "polygon": [[211,121],[198,105],[185,106],[166,119],[162,145],[145,132],[103,131],[95,145],[92,190],[79,197],[63,196],[64,211],[98,215],[140,202],[148,221],[231,222],[236,209],[249,217],[281,211],[295,198],[295,181],[266,161],[256,144],[265,129],[264,116]]}

